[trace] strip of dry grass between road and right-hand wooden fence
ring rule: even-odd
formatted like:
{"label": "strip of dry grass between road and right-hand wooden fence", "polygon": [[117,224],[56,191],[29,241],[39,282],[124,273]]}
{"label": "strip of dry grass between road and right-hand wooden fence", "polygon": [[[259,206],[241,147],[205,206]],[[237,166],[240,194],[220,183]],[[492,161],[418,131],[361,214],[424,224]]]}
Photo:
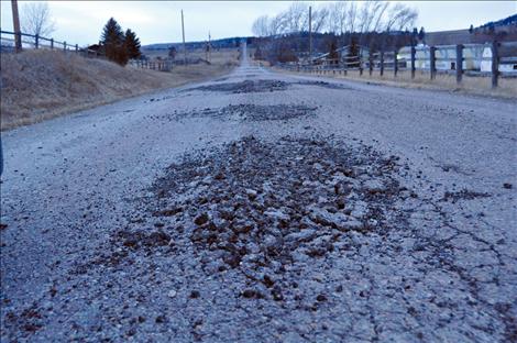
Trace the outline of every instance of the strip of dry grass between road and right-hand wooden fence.
{"label": "strip of dry grass between road and right-hand wooden fence", "polygon": [[[295,75],[301,74],[297,71],[286,71],[285,69],[279,68],[274,69]],[[455,75],[439,74],[435,80],[430,80],[429,74],[420,70],[417,70],[415,79],[411,79],[410,71],[399,71],[398,75],[394,77],[393,70],[386,70],[382,77],[378,75],[378,71],[373,71],[373,75],[370,76],[367,70],[365,70],[362,76],[358,70],[348,71],[346,75],[339,73],[333,74],[330,71],[322,74],[321,76],[404,88],[452,90],[477,96],[517,99],[517,78],[499,78],[499,87],[492,89],[492,79],[490,77],[463,76],[461,85],[458,85]]]}

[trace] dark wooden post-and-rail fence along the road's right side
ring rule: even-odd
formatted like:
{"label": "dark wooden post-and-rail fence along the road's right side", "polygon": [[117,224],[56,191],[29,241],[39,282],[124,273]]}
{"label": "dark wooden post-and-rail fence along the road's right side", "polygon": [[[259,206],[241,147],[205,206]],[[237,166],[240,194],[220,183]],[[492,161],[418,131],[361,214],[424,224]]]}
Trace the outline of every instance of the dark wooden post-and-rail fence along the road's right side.
{"label": "dark wooden post-and-rail fence along the road's right side", "polygon": [[[380,51],[377,53],[369,54],[367,56],[344,56],[341,60],[338,59],[326,59],[323,64],[298,64],[289,65],[282,64],[282,68],[286,68],[294,71],[304,71],[311,74],[343,74],[346,75],[348,70],[359,70],[362,76],[365,70],[372,76],[374,71],[378,71],[378,75],[383,76],[387,70],[392,71],[394,77],[402,70],[410,70],[411,78],[415,78],[417,70],[425,70],[429,73],[429,78],[432,80],[437,74],[453,74],[455,75],[457,82],[461,84],[463,76],[490,76],[492,78],[492,87],[498,86],[499,77],[517,77],[517,55],[516,56],[502,56],[499,54],[501,48],[516,48],[517,42],[493,42],[490,45],[491,56],[477,58],[481,63],[488,62],[491,64],[490,71],[471,70],[464,68],[463,65],[469,59],[474,57],[465,57],[464,49],[473,48],[474,44],[458,44],[458,45],[438,45],[426,47],[427,57],[418,57],[417,48],[411,47],[409,52],[409,58],[400,58],[400,51]],[[479,48],[485,45],[477,45]],[[437,51],[453,49],[455,52],[454,57],[438,57]],[[361,51],[361,49],[360,49]],[[420,48],[422,51],[422,48]],[[482,51],[484,54],[484,51]],[[448,62],[451,68],[437,68],[437,63]],[[419,65],[426,65],[426,67],[417,67]],[[514,70],[499,70],[499,65],[513,64]]]}

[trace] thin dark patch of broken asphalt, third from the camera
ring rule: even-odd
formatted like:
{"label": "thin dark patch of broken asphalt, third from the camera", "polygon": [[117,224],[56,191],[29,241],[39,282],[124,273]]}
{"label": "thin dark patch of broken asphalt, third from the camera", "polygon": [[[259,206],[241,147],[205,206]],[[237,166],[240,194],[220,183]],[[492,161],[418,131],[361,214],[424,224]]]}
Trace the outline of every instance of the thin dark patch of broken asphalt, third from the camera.
{"label": "thin dark patch of broken asphalt, third from the camera", "polygon": [[208,85],[186,89],[184,91],[220,91],[229,93],[250,93],[250,92],[272,92],[286,90],[288,82],[280,80],[244,80],[241,82],[229,82],[219,85]]}

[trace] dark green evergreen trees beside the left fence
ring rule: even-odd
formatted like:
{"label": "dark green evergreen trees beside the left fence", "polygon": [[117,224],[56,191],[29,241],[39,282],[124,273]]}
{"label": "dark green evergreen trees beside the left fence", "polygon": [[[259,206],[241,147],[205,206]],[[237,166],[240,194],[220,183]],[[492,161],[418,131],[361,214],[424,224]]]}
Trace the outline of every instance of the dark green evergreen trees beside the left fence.
{"label": "dark green evergreen trees beside the left fence", "polygon": [[113,18],[108,20],[102,29],[100,51],[109,60],[124,66],[130,59],[142,56],[140,48],[136,33],[130,29],[124,32]]}

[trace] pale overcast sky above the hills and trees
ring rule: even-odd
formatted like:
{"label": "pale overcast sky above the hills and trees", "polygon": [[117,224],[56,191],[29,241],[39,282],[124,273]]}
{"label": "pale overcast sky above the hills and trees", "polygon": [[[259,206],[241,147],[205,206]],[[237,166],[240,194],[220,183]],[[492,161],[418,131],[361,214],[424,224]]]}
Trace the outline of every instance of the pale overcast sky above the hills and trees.
{"label": "pale overcast sky above the hills and trees", "polygon": [[[28,1],[18,1],[20,11]],[[253,20],[274,15],[290,1],[48,1],[55,21],[53,36],[86,45],[99,41],[103,24],[113,16],[131,29],[142,44],[179,42],[180,10],[187,41],[251,35]],[[309,3],[315,4],[314,1]],[[316,2],[318,5],[319,2]],[[418,10],[417,26],[427,32],[468,29],[517,13],[517,1],[405,1]],[[1,0],[1,27],[12,30],[11,1]]]}

